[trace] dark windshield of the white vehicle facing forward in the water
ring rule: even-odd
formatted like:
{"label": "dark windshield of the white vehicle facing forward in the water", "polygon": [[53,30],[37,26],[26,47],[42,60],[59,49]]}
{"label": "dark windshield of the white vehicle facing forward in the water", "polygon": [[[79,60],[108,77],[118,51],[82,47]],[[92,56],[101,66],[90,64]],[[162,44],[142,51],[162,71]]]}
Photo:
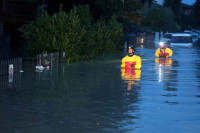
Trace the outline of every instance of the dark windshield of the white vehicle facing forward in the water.
{"label": "dark windshield of the white vehicle facing forward in the water", "polygon": [[172,43],[191,43],[191,36],[172,36]]}

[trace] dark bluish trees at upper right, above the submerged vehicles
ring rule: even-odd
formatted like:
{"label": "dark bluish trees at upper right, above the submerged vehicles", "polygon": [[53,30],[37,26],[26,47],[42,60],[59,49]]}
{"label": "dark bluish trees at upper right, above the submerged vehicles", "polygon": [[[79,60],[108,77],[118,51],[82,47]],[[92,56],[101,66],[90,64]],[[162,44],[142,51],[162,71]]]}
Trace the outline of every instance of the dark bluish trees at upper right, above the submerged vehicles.
{"label": "dark bluish trees at upper right, above the submerged vehicles", "polygon": [[144,14],[141,25],[171,32],[200,29],[200,0],[196,0],[188,14],[181,10],[181,2],[182,0],[164,0],[162,7],[154,7]]}

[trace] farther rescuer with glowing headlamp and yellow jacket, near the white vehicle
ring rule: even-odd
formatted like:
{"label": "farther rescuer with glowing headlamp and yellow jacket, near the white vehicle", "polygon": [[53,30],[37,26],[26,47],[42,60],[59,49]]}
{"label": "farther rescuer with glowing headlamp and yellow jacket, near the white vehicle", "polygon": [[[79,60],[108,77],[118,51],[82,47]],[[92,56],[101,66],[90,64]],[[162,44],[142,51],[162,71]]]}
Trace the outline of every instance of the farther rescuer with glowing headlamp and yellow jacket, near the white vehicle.
{"label": "farther rescuer with glowing headlamp and yellow jacket, near the white vehicle", "polygon": [[170,48],[168,48],[166,44],[161,44],[160,48],[157,48],[155,52],[155,56],[165,57],[165,58],[172,56],[172,54],[173,54],[173,51]]}

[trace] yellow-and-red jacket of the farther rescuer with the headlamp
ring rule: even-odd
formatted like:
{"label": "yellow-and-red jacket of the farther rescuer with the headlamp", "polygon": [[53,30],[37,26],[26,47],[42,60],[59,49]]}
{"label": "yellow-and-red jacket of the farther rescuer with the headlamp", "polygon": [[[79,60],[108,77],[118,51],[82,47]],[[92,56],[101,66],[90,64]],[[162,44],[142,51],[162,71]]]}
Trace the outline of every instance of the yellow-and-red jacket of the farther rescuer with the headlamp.
{"label": "yellow-and-red jacket of the farther rescuer with the headlamp", "polygon": [[165,48],[165,49],[161,49],[158,48],[155,52],[155,56],[157,57],[166,57],[166,56],[172,56],[173,51],[170,48]]}

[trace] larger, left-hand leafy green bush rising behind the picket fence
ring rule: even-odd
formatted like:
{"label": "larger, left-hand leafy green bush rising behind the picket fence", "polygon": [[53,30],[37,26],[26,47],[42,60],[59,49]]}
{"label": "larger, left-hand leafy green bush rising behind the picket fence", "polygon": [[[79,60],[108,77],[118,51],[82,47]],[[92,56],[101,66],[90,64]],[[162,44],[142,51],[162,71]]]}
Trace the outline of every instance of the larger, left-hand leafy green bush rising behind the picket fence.
{"label": "larger, left-hand leafy green bush rising behind the picket fence", "polygon": [[43,11],[40,18],[24,25],[20,31],[27,39],[26,46],[31,55],[42,51],[65,51],[68,59],[78,58],[86,34],[76,12],[72,10],[66,14],[62,8],[53,16]]}

